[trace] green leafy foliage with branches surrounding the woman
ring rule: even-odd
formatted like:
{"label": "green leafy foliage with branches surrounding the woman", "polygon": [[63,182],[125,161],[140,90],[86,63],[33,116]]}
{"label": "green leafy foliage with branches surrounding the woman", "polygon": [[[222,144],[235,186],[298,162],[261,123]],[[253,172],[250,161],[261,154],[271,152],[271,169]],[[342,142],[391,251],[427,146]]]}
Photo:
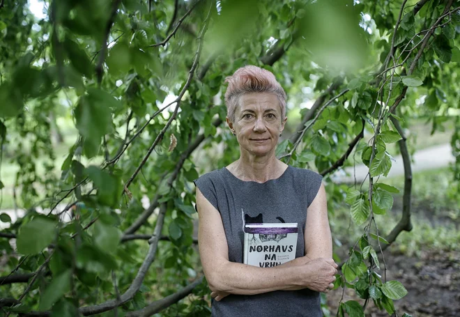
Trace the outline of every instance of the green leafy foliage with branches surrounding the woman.
{"label": "green leafy foliage with branches surrounding the woman", "polygon": [[[429,116],[435,132],[458,114],[458,1],[47,0],[43,19],[0,3],[1,157],[19,166],[0,187],[26,210],[1,232],[6,315],[209,314],[192,181],[237,158],[222,82],[246,64],[273,71],[300,115],[282,160],[328,176],[354,150],[369,167],[368,190],[325,180],[330,206],[346,199],[365,224],[336,285],[393,313],[406,291],[376,271],[385,239],[369,229],[394,192],[378,177],[387,144],[404,149],[405,118]],[[56,167],[61,118],[78,137]],[[338,315],[363,311],[348,301]]]}

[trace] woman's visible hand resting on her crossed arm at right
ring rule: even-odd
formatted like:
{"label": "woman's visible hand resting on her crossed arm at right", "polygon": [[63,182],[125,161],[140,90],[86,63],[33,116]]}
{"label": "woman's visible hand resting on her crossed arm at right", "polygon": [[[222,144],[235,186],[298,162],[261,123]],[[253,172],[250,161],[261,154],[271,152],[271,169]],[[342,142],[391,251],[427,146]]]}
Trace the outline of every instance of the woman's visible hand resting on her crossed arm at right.
{"label": "woman's visible hand resting on her crossed arm at right", "polygon": [[315,258],[298,266],[300,283],[312,291],[326,293],[334,287],[337,267],[332,258]]}

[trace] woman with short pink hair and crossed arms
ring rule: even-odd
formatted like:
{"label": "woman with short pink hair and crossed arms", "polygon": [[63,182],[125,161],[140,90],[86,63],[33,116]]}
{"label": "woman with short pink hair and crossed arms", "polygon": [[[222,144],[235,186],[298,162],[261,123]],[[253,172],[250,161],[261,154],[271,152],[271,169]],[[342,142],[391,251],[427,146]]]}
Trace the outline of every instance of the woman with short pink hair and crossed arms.
{"label": "woman with short pink hair and crossed arms", "polygon": [[[227,124],[240,158],[195,180],[212,315],[322,316],[318,292],[333,287],[337,264],[321,176],[275,157],[286,94],[271,72],[247,65],[226,82]],[[280,221],[298,224],[296,258],[273,268],[243,264],[245,223]]]}

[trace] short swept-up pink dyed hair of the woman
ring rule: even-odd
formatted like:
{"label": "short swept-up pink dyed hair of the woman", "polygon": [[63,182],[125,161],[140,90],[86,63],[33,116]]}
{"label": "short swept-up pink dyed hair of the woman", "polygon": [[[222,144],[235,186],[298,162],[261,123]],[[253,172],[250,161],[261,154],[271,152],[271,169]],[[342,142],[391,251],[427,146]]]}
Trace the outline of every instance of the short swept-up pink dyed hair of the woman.
{"label": "short swept-up pink dyed hair of the woman", "polygon": [[286,93],[277,82],[275,75],[269,70],[246,65],[238,68],[233,75],[225,79],[225,82],[229,84],[225,92],[225,104],[227,105],[227,116],[231,121],[235,120],[236,107],[245,93],[274,93],[281,108],[281,118],[286,117]]}

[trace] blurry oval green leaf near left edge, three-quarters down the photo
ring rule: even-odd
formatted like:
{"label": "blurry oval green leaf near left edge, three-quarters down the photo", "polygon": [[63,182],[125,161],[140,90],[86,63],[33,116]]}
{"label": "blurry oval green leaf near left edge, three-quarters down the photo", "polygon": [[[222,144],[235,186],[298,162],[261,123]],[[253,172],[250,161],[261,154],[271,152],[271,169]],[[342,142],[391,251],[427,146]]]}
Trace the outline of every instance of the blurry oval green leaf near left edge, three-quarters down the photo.
{"label": "blurry oval green leaf near left edge, three-quarters down the photo", "polygon": [[56,235],[56,224],[46,217],[35,217],[21,226],[17,235],[17,252],[37,254],[47,247]]}

